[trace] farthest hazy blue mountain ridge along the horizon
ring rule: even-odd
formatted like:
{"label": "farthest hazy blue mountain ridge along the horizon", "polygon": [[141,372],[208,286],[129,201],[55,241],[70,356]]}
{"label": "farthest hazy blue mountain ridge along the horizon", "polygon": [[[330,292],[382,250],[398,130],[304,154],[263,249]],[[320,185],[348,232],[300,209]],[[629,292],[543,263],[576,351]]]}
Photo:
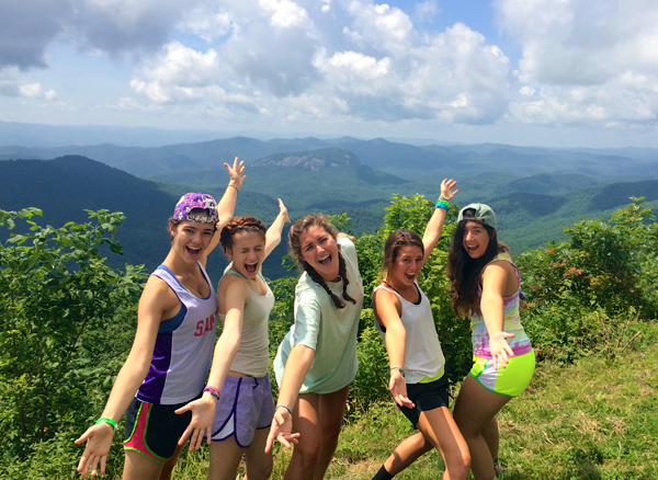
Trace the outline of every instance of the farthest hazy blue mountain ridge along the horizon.
{"label": "farthest hazy blue mountain ridge along the horizon", "polygon": [[254,163],[283,155],[343,149],[362,165],[383,170],[407,180],[427,178],[432,172],[463,178],[488,171],[506,171],[512,176],[538,173],[588,175],[606,181],[642,180],[658,176],[658,149],[556,149],[509,145],[430,145],[418,147],[384,138],[361,140],[351,137],[321,140],[315,137],[258,140],[232,137],[164,147],[120,147],[115,145],[71,147],[0,146],[0,158],[48,159],[80,155],[102,161],[141,178],[168,172],[208,170],[230,162],[237,156]]}

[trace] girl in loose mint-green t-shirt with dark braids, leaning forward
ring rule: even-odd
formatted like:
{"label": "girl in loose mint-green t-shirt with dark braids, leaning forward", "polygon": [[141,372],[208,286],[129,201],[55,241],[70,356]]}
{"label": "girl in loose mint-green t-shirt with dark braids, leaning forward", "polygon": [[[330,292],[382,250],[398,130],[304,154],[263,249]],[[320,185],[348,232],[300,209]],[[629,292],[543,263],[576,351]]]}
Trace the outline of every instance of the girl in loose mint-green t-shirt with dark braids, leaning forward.
{"label": "girl in loose mint-green t-shirt with dark braids, leaning forward", "polygon": [[295,323],[274,358],[280,393],[266,452],[275,439],[287,448],[296,443],[284,479],[319,480],[338,445],[356,375],[363,283],[354,243],[324,215],[297,220],[288,240],[304,273],[295,288]]}

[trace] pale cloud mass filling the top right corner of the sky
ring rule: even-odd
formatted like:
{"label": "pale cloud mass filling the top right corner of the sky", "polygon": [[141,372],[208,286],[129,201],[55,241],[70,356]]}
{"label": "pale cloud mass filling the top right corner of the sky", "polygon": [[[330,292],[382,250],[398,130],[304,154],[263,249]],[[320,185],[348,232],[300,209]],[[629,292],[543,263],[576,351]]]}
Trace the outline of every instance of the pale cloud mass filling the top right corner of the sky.
{"label": "pale cloud mass filling the top right corner of the sky", "polygon": [[655,123],[658,3],[654,0],[499,0],[500,26],[519,38],[524,123]]}

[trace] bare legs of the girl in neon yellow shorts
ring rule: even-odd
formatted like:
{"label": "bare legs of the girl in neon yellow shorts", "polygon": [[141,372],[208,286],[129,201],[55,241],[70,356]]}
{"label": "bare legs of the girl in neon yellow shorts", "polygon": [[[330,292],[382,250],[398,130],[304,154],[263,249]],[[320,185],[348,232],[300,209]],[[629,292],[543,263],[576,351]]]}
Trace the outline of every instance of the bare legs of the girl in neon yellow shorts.
{"label": "bare legs of the girl in neon yellow shorts", "polygon": [[483,387],[467,375],[455,403],[454,418],[470,450],[470,468],[476,480],[492,480],[494,457],[498,455],[496,414],[511,400]]}

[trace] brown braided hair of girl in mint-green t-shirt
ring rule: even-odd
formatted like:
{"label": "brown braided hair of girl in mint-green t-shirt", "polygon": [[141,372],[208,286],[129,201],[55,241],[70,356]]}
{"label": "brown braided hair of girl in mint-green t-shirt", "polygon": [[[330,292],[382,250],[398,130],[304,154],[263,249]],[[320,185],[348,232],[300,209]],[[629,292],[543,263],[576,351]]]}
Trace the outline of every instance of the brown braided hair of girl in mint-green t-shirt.
{"label": "brown braided hair of girl in mint-green t-shirt", "polygon": [[[299,243],[299,237],[302,237],[302,235],[308,228],[315,226],[324,228],[327,233],[333,237],[333,240],[338,240],[338,230],[333,225],[329,222],[327,217],[325,217],[322,214],[310,214],[295,221],[291,227],[291,230],[288,231],[291,255],[295,259],[297,264],[300,265],[302,268],[308,274],[308,276],[310,276],[310,278],[315,283],[319,284],[325,289],[325,292],[327,292],[327,294],[331,297],[331,300],[333,301],[336,308],[344,308],[345,304],[334,293],[331,292],[325,279],[315,271],[313,266],[310,266],[307,262],[304,261],[304,258],[302,255],[302,244]],[[343,299],[351,301],[352,304],[356,304],[356,300],[354,300],[352,297],[350,297],[350,295],[348,295],[348,285],[350,284],[350,281],[348,279],[345,260],[343,259],[342,253],[340,251],[340,245],[338,245],[338,274],[343,281]]]}

